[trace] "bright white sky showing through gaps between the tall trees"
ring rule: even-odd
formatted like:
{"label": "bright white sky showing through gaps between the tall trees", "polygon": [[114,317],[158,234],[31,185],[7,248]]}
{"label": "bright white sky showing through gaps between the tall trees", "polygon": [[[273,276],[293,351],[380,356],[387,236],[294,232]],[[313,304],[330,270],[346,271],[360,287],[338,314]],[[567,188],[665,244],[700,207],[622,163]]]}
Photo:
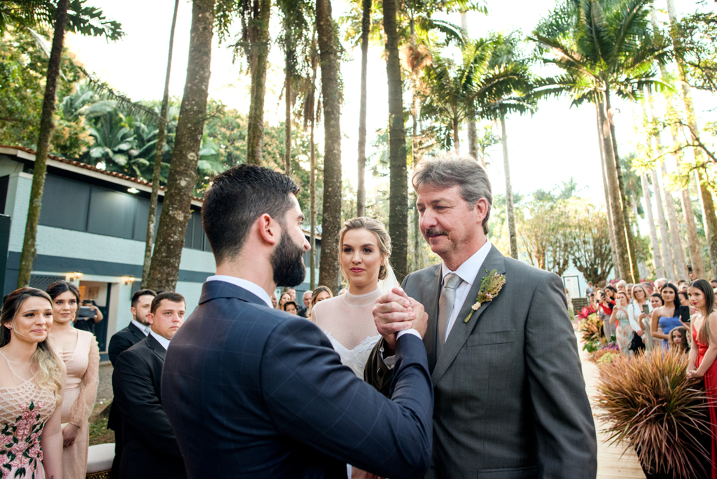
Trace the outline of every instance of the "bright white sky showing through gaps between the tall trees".
{"label": "bright white sky showing through gaps between the tall trees", "polygon": [[[665,0],[657,0],[657,8],[665,9]],[[134,100],[161,98],[166,69],[172,0],[94,0],[108,17],[123,24],[127,36],[117,43],[106,43],[102,39],[72,36],[70,47],[78,54],[87,70],[96,72],[103,79],[127,93]],[[538,20],[554,6],[554,0],[533,0],[516,2],[489,0],[488,16],[469,14],[468,29],[471,37],[480,37],[490,30],[510,31],[521,29],[531,32]],[[344,1],[334,0],[335,16],[346,8]],[[678,1],[681,9],[693,9],[693,0]],[[272,29],[279,15],[272,9]],[[450,18],[460,24],[455,14]],[[174,42],[174,60],[171,77],[171,95],[181,96],[186,76],[187,52],[189,49],[189,27],[191,24],[191,1],[181,0]],[[212,52],[212,80],[210,96],[239,111],[249,110],[250,77],[240,72],[239,65],[232,65],[232,52],[217,44],[214,37]],[[385,128],[388,118],[386,63],[381,57],[383,48],[374,46],[369,51],[369,107],[367,119],[368,151],[376,129]],[[344,103],[341,110],[341,143],[343,177],[355,185],[356,150],[359,131],[359,93],[361,77],[361,50],[349,50],[351,58],[341,65],[344,85]],[[272,45],[270,70],[267,74],[267,96],[265,99],[265,120],[278,123],[284,115],[279,95],[283,82],[283,60],[280,47]],[[410,98],[404,93],[404,103]],[[716,106],[709,95],[695,95],[698,114]],[[621,153],[632,149],[632,115],[630,105],[617,105],[617,136]],[[500,126],[496,129],[499,134]],[[602,177],[599,169],[599,150],[595,111],[592,106],[570,108],[569,100],[549,100],[539,105],[538,113],[531,116],[513,116],[507,121],[508,148],[511,161],[513,190],[527,194],[538,188],[551,189],[561,181],[573,176],[581,186],[580,196],[596,203],[604,202]],[[323,138],[317,138],[317,147],[323,148]],[[461,150],[467,151],[465,131],[462,132]],[[489,174],[496,194],[505,192],[503,176],[503,155],[500,145],[491,151]],[[668,169],[670,169],[668,163]],[[367,178],[369,181],[371,179]]]}

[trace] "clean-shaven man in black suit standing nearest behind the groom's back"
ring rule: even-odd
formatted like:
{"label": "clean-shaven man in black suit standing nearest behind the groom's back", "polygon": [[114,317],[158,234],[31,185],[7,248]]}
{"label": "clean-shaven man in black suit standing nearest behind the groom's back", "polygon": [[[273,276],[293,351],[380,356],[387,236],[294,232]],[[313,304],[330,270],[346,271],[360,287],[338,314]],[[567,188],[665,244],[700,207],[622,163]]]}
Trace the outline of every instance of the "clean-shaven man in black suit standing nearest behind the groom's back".
{"label": "clean-shaven man in black suit standing nearest behind the groom's back", "polygon": [[148,336],[120,354],[112,374],[115,401],[122,414],[120,478],[183,478],[184,462],[161,402],[164,354],[184,323],[185,303],[178,293],[152,300]]}

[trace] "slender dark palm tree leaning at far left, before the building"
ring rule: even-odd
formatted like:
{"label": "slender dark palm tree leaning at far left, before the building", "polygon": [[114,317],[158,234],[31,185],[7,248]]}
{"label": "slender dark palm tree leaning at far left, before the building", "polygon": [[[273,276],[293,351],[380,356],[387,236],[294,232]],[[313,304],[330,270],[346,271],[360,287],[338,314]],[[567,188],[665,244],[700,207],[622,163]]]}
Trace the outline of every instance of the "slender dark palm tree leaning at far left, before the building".
{"label": "slender dark palm tree leaning at far left, before the building", "polygon": [[[76,8],[77,5],[82,6],[82,1],[75,0],[73,6]],[[14,8],[15,6],[18,6],[18,8]],[[40,126],[37,135],[37,153],[35,153],[35,161],[32,168],[32,188],[30,190],[27,221],[25,223],[25,236],[22,244],[22,255],[20,257],[17,279],[18,288],[29,285],[32,262],[34,262],[37,254],[35,247],[37,240],[37,222],[39,220],[40,207],[42,206],[42,189],[44,187],[44,176],[47,171],[49,138],[53,128],[52,115],[54,113],[55,94],[57,93],[57,81],[60,78],[60,62],[62,61],[62,47],[65,44],[65,27],[67,26],[69,7],[70,0],[58,0],[57,5],[49,2],[19,0],[4,2],[4,5],[0,9],[0,34],[2,34],[9,22],[14,22],[14,24],[19,24],[23,27],[29,27],[37,22],[45,22],[47,24],[50,19],[52,19],[54,23],[52,48],[50,49],[49,62],[47,64],[47,80],[45,82],[44,98],[42,100],[42,114],[40,116]],[[74,16],[77,16],[76,12]],[[86,15],[80,15],[80,18],[86,19]],[[113,40],[122,37],[123,32],[120,28],[120,24],[117,22],[103,23],[104,16],[102,16],[101,19],[95,16],[94,20],[98,27],[91,27],[90,24],[86,22],[81,27],[77,27],[77,24],[73,24],[73,29],[77,29],[77,31],[82,34],[101,34]]]}

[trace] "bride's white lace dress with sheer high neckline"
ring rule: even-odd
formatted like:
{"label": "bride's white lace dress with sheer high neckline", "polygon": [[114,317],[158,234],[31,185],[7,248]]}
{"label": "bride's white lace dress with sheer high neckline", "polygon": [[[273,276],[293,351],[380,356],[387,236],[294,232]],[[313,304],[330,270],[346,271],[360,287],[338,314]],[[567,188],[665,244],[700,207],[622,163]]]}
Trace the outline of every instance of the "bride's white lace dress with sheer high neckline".
{"label": "bride's white lace dress with sheer high neckline", "polygon": [[366,360],[381,335],[374,323],[374,303],[381,295],[378,288],[365,295],[344,293],[316,303],[312,320],[326,333],[341,362],[364,379]]}

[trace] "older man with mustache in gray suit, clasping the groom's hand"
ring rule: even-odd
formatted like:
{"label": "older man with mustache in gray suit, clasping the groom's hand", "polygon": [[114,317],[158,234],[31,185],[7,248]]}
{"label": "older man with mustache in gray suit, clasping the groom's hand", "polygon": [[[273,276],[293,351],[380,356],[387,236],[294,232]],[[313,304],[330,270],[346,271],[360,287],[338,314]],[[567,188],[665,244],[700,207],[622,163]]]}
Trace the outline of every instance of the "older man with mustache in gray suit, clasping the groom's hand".
{"label": "older man with mustache in gray suit, clasping the groom's hand", "polygon": [[[376,301],[383,338],[366,381],[378,389],[390,383],[397,333],[411,327],[404,307],[411,298],[429,314],[423,341],[435,411],[427,478],[595,478],[595,427],[561,279],[490,244],[490,181],[471,156],[422,161],[413,186],[421,232],[443,261]],[[492,300],[480,295],[478,307],[493,270],[505,284]]]}

